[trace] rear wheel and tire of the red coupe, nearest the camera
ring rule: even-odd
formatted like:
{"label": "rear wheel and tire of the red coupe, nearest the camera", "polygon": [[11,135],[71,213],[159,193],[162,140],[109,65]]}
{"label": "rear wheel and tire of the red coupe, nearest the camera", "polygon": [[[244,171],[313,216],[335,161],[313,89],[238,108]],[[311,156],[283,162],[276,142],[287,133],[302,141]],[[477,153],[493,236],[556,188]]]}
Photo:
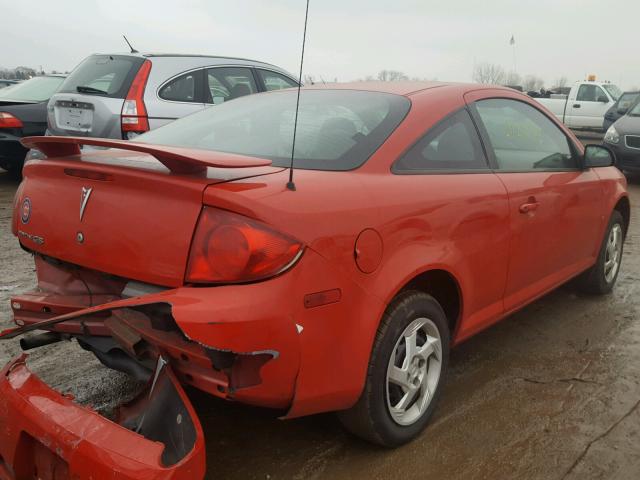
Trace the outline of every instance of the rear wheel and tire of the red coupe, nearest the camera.
{"label": "rear wheel and tire of the red coupe, nearest the camera", "polygon": [[420,434],[442,391],[449,341],[447,318],[433,297],[400,293],[378,328],[360,399],[338,413],[346,429],[386,447]]}

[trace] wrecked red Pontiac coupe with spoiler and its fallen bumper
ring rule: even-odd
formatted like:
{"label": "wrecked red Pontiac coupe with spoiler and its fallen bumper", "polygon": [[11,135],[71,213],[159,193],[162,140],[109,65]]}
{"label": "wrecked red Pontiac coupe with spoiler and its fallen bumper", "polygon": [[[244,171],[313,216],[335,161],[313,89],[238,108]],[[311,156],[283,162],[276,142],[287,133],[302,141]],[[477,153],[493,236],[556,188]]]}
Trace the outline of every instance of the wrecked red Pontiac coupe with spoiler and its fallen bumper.
{"label": "wrecked red Pontiac coupe with spoiler and its fallen bumper", "polygon": [[80,476],[201,475],[180,384],[287,418],[338,411],[356,435],[400,445],[429,421],[450,347],[574,277],[613,288],[624,177],[527,96],[304,88],[288,185],[295,107],[285,90],[135,142],[24,140],[48,157],[25,166],[13,219],[38,289],[12,299],[17,326],[1,336],[45,330],[25,350],[73,337],[149,384],[112,421],[14,359],[0,471],[20,477],[17,446],[32,442]]}

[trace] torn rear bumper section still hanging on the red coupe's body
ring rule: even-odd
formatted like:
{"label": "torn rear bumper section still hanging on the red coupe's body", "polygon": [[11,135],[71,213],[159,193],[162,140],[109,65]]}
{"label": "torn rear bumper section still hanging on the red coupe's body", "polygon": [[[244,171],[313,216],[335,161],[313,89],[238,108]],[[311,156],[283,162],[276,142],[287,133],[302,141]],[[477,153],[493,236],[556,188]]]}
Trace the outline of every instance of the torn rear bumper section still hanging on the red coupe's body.
{"label": "torn rear bumper section still hanging on the red coupe's body", "polygon": [[18,327],[0,332],[0,340],[50,330],[77,337],[103,363],[118,368],[106,358],[113,349],[99,351],[91,341],[110,337],[121,349],[120,358],[126,353],[149,371],[162,355],[183,384],[285,410],[294,397],[300,363],[294,314],[290,303],[281,301],[287,288],[283,278],[245,285],[242,295],[238,287],[183,287],[104,298],[95,306],[84,304],[82,296],[27,293],[12,298]]}

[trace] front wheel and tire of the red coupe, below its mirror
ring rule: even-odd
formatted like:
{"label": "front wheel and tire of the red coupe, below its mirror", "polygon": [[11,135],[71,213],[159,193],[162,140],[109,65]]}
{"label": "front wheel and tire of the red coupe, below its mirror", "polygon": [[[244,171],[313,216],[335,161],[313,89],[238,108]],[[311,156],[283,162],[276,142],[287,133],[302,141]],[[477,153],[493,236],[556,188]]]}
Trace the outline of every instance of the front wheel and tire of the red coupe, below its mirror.
{"label": "front wheel and tire of the red coupe, below its mirror", "polygon": [[585,293],[604,295],[611,292],[620,273],[625,237],[624,219],[614,210],[600,247],[598,261],[578,277],[578,285]]}

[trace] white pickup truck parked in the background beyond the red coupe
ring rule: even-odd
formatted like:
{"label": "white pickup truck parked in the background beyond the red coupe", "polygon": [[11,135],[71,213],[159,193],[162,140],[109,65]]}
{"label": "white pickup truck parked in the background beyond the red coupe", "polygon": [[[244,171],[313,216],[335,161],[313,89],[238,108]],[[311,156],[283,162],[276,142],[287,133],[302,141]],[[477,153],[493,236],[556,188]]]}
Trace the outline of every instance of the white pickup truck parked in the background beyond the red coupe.
{"label": "white pickup truck parked in the background beyond the red coupe", "polygon": [[576,82],[569,95],[536,98],[567,127],[602,130],[604,114],[618,100],[622,91],[613,83]]}

